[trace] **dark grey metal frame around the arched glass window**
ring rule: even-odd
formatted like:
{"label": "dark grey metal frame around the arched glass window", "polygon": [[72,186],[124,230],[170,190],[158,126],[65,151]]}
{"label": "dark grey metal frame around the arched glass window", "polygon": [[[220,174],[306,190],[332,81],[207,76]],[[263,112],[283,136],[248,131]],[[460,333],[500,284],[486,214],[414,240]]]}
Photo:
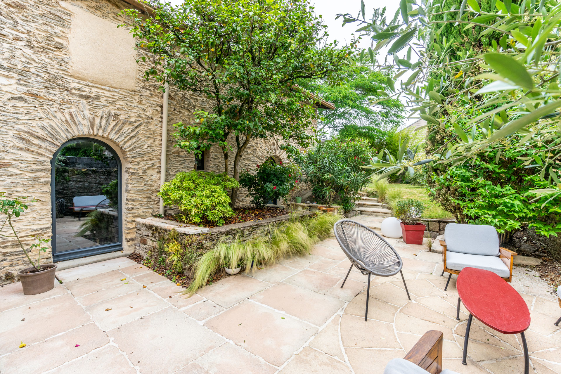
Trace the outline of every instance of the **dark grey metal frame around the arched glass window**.
{"label": "dark grey metal frame around the arched glass window", "polygon": [[[109,244],[100,244],[99,246],[93,246],[93,247],[86,247],[86,248],[78,248],[76,250],[70,250],[70,251],[63,251],[61,253],[57,253],[57,221],[56,221],[56,188],[55,188],[55,181],[54,181],[54,173],[55,173],[55,169],[54,169],[54,163],[55,160],[57,159],[58,154],[61,152],[61,150],[66,147],[69,144],[72,143],[76,143],[76,142],[80,142],[80,141],[89,141],[89,142],[93,142],[96,144],[99,144],[103,147],[105,147],[105,149],[107,149],[109,152],[111,152],[111,154],[113,155],[113,157],[115,158],[115,160],[117,160],[117,176],[118,176],[118,181],[119,181],[119,187],[118,187],[118,191],[119,191],[119,205],[118,205],[118,220],[119,220],[119,238],[118,238],[118,242],[116,243],[109,243]],[[52,238],[53,240],[51,241],[52,246],[53,246],[53,262],[55,261],[65,261],[65,260],[72,260],[72,258],[79,258],[79,257],[86,257],[86,256],[94,256],[94,255],[100,255],[101,253],[108,253],[108,252],[116,252],[116,251],[122,251],[123,250],[123,217],[122,217],[122,172],[121,172],[121,159],[119,158],[119,155],[116,153],[116,151],[113,149],[112,146],[108,145],[107,143],[98,140],[96,138],[90,138],[90,137],[77,137],[77,138],[72,138],[71,140],[68,140],[67,142],[65,142],[65,144],[61,145],[58,150],[54,153],[53,155],[53,159],[50,161],[50,200],[51,200],[51,210],[52,210],[52,216],[53,216],[53,223],[52,223]]]}

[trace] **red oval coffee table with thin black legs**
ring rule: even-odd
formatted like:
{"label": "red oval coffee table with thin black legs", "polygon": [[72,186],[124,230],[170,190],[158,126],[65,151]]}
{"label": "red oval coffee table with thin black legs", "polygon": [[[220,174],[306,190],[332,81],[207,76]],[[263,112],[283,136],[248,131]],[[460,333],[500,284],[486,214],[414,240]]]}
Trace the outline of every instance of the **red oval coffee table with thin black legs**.
{"label": "red oval coffee table with thin black legs", "polygon": [[470,337],[472,317],[503,334],[520,334],[524,348],[524,373],[528,374],[530,361],[524,331],[530,327],[530,311],[526,302],[503,278],[489,270],[465,267],[456,281],[459,302],[462,301],[470,316],[467,318],[466,336],[463,339],[463,360],[467,365],[467,341]]}

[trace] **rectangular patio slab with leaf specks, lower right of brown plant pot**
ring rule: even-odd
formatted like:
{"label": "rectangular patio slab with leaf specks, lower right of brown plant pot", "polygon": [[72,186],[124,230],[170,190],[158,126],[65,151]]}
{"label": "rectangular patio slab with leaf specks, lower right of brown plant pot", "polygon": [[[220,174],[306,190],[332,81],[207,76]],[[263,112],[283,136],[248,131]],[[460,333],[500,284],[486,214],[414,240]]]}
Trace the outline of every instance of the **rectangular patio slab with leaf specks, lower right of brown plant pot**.
{"label": "rectangular patio slab with leaf specks, lower right of brown plant pot", "polygon": [[161,298],[146,289],[140,289],[139,292],[94,304],[87,307],[86,311],[107,331],[167,306],[169,304]]}

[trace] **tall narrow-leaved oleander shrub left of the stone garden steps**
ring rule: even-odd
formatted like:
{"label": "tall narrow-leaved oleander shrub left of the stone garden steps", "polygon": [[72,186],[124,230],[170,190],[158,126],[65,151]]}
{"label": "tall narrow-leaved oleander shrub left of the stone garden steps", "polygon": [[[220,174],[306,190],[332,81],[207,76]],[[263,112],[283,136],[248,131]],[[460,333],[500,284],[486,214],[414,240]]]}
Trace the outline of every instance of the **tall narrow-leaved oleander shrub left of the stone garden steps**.
{"label": "tall narrow-leaved oleander shrub left of the stone garden steps", "polygon": [[370,182],[373,171],[361,166],[370,163],[371,151],[366,140],[333,139],[298,154],[295,161],[318,200],[335,202],[348,212],[360,199],[357,192]]}

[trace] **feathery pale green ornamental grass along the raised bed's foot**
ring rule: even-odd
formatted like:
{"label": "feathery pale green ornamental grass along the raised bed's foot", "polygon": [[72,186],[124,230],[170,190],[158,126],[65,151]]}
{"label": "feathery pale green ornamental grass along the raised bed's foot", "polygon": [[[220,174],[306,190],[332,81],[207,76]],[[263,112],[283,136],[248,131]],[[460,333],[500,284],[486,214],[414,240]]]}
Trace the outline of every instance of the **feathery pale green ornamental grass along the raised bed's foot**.
{"label": "feathery pale green ornamental grass along the raised bed's foot", "polygon": [[245,242],[240,237],[230,243],[220,242],[195,263],[195,276],[186,293],[192,295],[204,287],[221,267],[241,266],[247,274],[255,271],[256,266],[272,265],[280,258],[309,254],[315,243],[330,235],[341,218],[317,213],[309,219],[293,218],[276,228],[269,227]]}

